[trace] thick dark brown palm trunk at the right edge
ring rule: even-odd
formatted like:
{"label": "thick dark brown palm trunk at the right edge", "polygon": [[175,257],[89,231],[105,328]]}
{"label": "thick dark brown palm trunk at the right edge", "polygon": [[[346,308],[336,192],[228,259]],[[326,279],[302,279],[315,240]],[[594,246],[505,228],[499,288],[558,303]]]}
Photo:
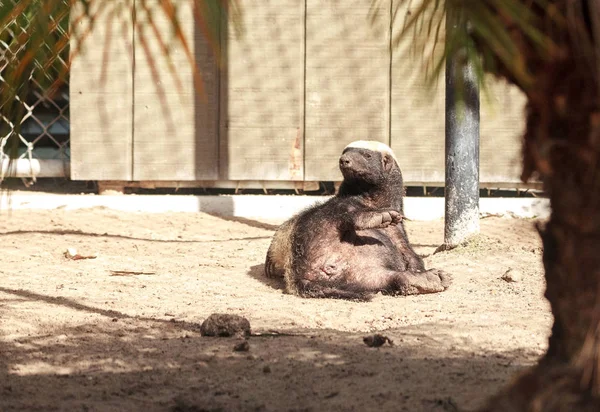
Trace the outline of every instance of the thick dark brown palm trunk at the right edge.
{"label": "thick dark brown palm trunk at the right edge", "polygon": [[[589,8],[588,4],[589,3]],[[554,325],[545,356],[482,411],[600,411],[600,50],[596,1],[555,1],[569,17],[548,59],[531,57],[523,180],[538,174],[552,214],[539,227]],[[548,28],[550,30],[550,28]],[[523,45],[526,56],[535,53]]]}

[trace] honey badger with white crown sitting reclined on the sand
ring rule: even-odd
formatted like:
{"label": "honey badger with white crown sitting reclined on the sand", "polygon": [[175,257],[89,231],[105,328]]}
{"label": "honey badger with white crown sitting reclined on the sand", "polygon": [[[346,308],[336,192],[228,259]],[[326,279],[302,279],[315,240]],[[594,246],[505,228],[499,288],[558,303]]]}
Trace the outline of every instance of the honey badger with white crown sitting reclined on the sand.
{"label": "honey badger with white crown sitting reclined on the sand", "polygon": [[368,300],[376,292],[441,292],[451,278],[425,270],[402,222],[404,184],[391,148],[355,141],[339,159],[338,194],[283,223],[267,252],[265,274],[288,293]]}

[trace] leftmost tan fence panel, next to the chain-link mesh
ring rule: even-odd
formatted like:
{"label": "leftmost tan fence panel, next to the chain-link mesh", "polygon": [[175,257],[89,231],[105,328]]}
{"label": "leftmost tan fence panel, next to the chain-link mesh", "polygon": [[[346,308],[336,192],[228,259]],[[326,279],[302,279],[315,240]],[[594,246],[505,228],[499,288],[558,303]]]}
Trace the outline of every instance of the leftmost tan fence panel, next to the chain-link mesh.
{"label": "leftmost tan fence panel, next to the chain-link mesh", "polygon": [[[115,2],[116,3],[116,2]],[[92,7],[98,7],[98,2]],[[71,177],[130,180],[133,130],[131,9],[108,5],[98,14],[83,54],[71,66]],[[81,14],[74,7],[71,22]],[[79,19],[80,32],[86,20]],[[74,43],[71,52],[74,52]]]}

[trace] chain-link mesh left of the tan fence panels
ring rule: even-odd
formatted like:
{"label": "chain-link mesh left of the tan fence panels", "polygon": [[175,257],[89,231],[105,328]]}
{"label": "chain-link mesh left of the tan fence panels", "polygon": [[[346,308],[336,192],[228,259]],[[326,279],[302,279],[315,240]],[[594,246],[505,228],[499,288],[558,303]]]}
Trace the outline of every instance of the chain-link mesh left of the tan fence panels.
{"label": "chain-link mesh left of the tan fence panels", "polygon": [[[18,3],[18,0],[0,1],[0,6],[14,7]],[[38,158],[66,161],[69,158],[69,84],[68,80],[61,84],[56,83],[60,72],[66,71],[68,67],[69,1],[63,0],[56,4],[57,7],[51,12],[51,17],[48,19],[48,24],[52,27],[50,36],[47,41],[42,43],[42,47],[47,48],[45,55],[55,58],[50,62],[35,60],[34,73],[29,79],[27,97],[14,99],[13,103],[16,105],[13,104],[11,110],[0,112],[0,160],[6,160],[9,157],[7,141],[13,132],[17,132],[15,119],[21,116],[15,112],[19,109],[23,116],[20,122],[21,128],[17,134],[20,159]],[[23,60],[29,52],[27,50],[29,44],[19,46],[18,42],[13,40],[17,36],[27,33],[34,18],[36,18],[35,15],[23,12],[2,27],[5,35],[0,39],[0,88],[15,86],[9,84],[5,72],[10,64]],[[0,167],[0,169],[2,168]],[[43,172],[43,170],[40,171],[40,177],[43,177]],[[4,176],[0,176],[0,180],[2,177]],[[34,176],[31,177],[35,180]]]}

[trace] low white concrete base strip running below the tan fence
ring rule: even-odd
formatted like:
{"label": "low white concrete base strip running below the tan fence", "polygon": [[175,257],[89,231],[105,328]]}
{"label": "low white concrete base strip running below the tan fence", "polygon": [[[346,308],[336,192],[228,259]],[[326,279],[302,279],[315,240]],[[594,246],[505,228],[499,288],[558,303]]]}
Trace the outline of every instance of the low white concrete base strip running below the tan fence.
{"label": "low white concrete base strip running below the tan fence", "polygon": [[[294,213],[327,200],[326,196],[271,195],[55,195],[12,193],[2,196],[0,208],[8,209],[84,209],[106,207],[128,212],[205,212],[224,216],[285,219]],[[498,215],[521,218],[545,218],[549,203],[542,198],[482,198],[481,216]],[[435,220],[444,217],[444,198],[407,197],[404,212],[411,220]]]}

